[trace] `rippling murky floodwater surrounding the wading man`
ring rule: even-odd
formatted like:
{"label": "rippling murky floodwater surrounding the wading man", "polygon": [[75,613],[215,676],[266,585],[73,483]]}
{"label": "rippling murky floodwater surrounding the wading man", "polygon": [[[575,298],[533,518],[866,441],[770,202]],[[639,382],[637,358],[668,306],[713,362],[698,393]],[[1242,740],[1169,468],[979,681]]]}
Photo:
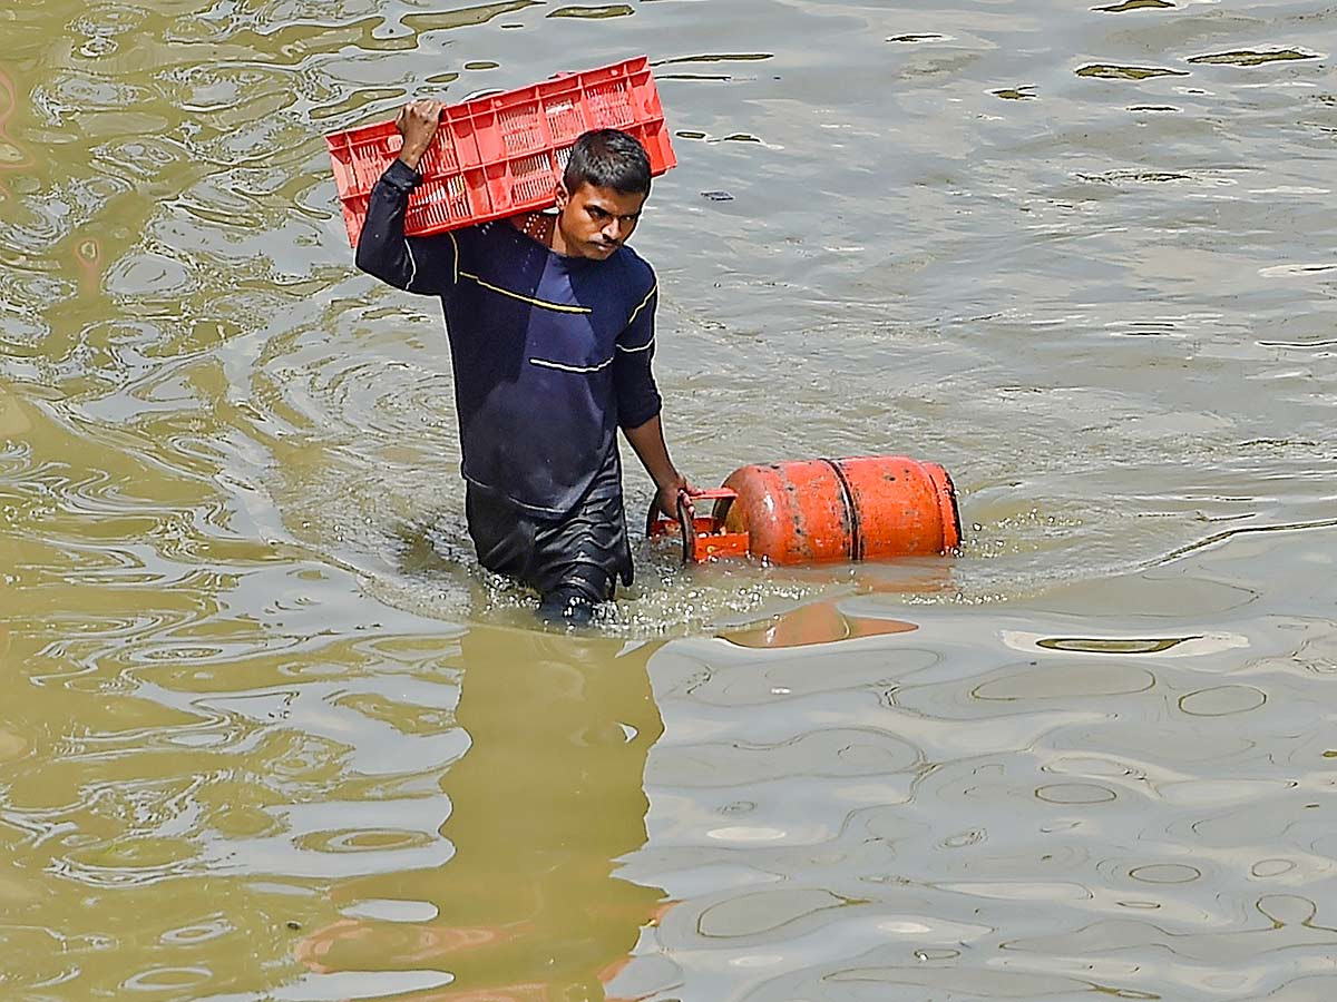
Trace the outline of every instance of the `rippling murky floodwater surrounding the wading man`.
{"label": "rippling murky floodwater surrounding the wading man", "polygon": [[[1337,12],[0,4],[0,997],[1337,997]],[[678,464],[955,558],[473,564],[322,135],[648,53]],[[650,485],[627,453],[630,517]]]}

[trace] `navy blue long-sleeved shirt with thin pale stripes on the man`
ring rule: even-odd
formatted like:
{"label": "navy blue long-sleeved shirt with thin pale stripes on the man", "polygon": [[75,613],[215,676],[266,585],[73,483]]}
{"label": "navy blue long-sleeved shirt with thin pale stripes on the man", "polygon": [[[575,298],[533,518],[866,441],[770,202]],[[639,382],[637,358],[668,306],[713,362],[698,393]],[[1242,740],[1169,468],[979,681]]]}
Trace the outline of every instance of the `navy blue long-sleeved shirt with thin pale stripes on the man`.
{"label": "navy blue long-sleeved shirt with thin pale stripes on the man", "polygon": [[659,413],[655,273],[630,247],[604,261],[567,257],[505,220],[405,236],[418,183],[400,160],[386,168],[357,266],[441,298],[465,480],[562,517],[616,448],[618,426]]}

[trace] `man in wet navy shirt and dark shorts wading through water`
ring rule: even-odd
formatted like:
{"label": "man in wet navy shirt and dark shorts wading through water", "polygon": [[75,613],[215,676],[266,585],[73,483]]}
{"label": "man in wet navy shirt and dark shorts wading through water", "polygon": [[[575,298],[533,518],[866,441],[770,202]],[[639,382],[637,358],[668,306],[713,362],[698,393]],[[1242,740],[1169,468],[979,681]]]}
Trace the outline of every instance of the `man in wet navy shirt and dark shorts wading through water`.
{"label": "man in wet navy shirt and dark shorts wading through water", "polygon": [[650,370],[655,273],[624,246],[650,195],[650,162],[626,132],[586,132],[555,216],[405,236],[443,107],[400,112],[404,148],[372,190],[357,266],[441,298],[479,561],[536,588],[543,619],[584,624],[616,578],[632,578],[618,428],[664,513],[677,517],[678,493],[693,490],[664,446]]}

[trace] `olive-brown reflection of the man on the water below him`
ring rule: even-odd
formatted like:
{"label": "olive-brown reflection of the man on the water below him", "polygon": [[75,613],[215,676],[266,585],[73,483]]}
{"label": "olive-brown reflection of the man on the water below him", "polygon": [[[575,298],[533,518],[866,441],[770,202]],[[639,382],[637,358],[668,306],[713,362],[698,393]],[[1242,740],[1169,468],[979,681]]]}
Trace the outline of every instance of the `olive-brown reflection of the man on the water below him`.
{"label": "olive-brown reflection of the man on the water below him", "polygon": [[456,720],[472,744],[443,782],[455,855],[342,883],[345,918],[298,958],[326,975],[453,978],[404,995],[420,1002],[604,998],[663,898],[616,875],[616,860],[646,842],[646,755],[663,732],[646,668],[656,648],[465,635]]}

